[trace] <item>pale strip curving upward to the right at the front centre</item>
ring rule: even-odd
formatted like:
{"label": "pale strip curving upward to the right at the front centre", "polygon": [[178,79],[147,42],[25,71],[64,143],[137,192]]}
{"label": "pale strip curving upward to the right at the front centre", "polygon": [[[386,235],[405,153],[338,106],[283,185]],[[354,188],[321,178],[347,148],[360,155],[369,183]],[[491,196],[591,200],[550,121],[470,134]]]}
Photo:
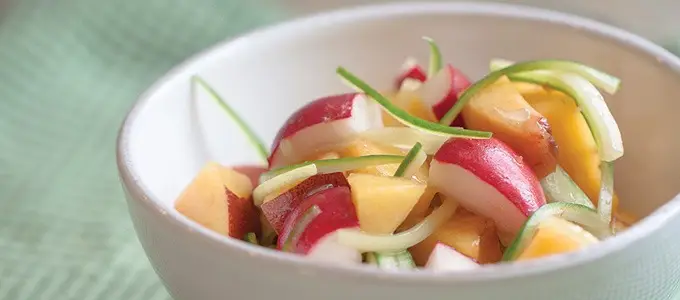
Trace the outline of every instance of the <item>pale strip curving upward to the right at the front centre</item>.
{"label": "pale strip curving upward to the right at the front centre", "polygon": [[399,251],[425,240],[458,209],[458,203],[447,199],[423,221],[395,235],[371,235],[358,230],[338,230],[338,241],[363,252]]}

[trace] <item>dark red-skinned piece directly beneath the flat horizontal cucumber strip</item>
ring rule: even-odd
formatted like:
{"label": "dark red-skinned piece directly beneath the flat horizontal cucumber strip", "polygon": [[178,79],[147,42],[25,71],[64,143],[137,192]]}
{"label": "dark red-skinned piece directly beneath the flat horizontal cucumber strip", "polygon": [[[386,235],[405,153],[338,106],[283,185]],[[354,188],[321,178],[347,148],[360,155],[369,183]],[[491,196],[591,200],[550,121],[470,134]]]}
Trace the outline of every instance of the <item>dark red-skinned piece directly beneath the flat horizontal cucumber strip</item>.
{"label": "dark red-skinned piece directly beneath the flat horizontal cucumber strip", "polygon": [[292,189],[260,206],[269,224],[277,233],[281,233],[288,215],[307,197],[334,187],[347,187],[349,183],[340,172],[319,174],[305,179]]}

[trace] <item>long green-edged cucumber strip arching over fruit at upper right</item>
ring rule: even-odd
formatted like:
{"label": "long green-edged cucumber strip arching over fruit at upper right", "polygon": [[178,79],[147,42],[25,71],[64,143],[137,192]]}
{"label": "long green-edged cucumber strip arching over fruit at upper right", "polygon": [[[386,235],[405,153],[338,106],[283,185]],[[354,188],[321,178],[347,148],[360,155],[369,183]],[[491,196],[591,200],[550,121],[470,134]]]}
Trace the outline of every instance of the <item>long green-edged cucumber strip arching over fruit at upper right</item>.
{"label": "long green-edged cucumber strip arching over fruit at upper right", "polygon": [[463,110],[463,107],[482,89],[493,84],[503,76],[536,71],[536,70],[556,70],[567,73],[574,73],[585,78],[589,82],[602,87],[608,93],[614,93],[619,87],[620,80],[609,74],[603,73],[583,64],[579,64],[566,60],[535,60],[526,61],[513,64],[500,70],[493,71],[484,78],[468,87],[458,98],[456,104],[446,112],[446,114],[439,121],[440,124],[451,124],[456,119],[458,114]]}

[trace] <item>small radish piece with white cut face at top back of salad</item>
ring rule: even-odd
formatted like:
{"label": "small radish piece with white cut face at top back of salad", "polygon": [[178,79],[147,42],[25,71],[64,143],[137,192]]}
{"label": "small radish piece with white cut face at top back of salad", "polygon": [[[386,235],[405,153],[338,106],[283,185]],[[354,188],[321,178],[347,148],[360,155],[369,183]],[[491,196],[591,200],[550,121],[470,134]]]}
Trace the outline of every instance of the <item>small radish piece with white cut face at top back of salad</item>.
{"label": "small radish piece with white cut face at top back of salad", "polygon": [[[447,64],[435,76],[425,81],[420,87],[420,95],[423,102],[432,107],[437,120],[440,120],[458,101],[458,95],[470,86],[463,72]],[[458,116],[451,126],[464,127],[462,116]]]}

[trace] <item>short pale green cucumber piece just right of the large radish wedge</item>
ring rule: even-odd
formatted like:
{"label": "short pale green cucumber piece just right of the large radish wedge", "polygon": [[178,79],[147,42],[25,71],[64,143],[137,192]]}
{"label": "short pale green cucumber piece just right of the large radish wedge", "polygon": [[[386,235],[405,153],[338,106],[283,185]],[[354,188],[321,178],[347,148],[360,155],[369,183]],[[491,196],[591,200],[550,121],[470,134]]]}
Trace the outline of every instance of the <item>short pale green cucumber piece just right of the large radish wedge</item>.
{"label": "short pale green cucumber piece just right of the large radish wedge", "polygon": [[541,187],[548,203],[574,203],[595,209],[593,202],[560,166],[557,166],[555,172],[541,179]]}

